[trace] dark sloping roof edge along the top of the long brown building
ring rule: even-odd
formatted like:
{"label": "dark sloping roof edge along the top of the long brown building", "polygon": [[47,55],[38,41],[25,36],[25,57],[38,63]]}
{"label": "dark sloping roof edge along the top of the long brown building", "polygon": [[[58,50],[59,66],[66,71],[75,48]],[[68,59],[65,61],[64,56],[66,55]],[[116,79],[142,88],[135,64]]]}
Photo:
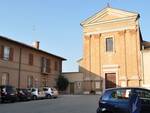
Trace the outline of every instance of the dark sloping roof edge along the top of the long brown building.
{"label": "dark sloping roof edge along the top of the long brown building", "polygon": [[39,52],[45,53],[45,54],[47,54],[47,55],[51,55],[51,56],[57,57],[57,58],[59,58],[59,59],[61,59],[61,60],[66,60],[66,59],[63,58],[63,57],[60,57],[60,56],[57,56],[57,55],[48,53],[48,52],[46,52],[46,51],[44,51],[44,50],[41,50],[41,49],[37,49],[37,48],[32,47],[32,46],[30,46],[30,45],[27,45],[27,44],[25,44],[25,43],[22,43],[22,42],[19,42],[19,41],[16,41],[16,40],[12,40],[12,39],[10,39],[10,38],[8,38],[8,37],[0,36],[0,40],[6,40],[6,41],[9,41],[9,42],[12,42],[12,43],[15,43],[15,44],[18,44],[18,45],[21,45],[21,46],[30,48],[30,49],[32,49],[32,50],[34,50],[34,51],[39,51]]}

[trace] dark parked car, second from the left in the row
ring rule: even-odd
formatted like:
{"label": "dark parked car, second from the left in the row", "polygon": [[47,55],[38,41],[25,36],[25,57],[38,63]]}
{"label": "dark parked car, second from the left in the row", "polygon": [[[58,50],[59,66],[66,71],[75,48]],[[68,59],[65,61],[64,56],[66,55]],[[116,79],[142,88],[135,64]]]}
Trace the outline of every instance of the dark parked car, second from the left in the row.
{"label": "dark parked car, second from the left in the row", "polygon": [[17,89],[17,96],[20,101],[31,100],[32,95],[28,89]]}

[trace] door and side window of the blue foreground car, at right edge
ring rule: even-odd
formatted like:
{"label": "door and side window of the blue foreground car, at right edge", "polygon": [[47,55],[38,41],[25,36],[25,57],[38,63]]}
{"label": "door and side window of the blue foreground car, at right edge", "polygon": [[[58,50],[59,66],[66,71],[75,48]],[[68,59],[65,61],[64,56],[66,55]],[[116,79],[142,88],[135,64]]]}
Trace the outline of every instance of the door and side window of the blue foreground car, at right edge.
{"label": "door and side window of the blue foreground car, at right edge", "polygon": [[146,89],[136,89],[141,100],[141,113],[150,113],[150,91]]}

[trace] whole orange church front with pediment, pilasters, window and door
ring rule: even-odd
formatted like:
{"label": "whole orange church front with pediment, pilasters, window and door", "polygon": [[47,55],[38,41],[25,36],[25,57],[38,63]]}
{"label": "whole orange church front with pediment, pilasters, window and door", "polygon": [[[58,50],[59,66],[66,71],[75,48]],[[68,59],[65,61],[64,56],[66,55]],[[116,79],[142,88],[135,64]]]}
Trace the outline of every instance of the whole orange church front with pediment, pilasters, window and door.
{"label": "whole orange church front with pediment, pilasters, window and door", "polygon": [[143,62],[139,14],[106,7],[81,23],[86,92],[142,86]]}

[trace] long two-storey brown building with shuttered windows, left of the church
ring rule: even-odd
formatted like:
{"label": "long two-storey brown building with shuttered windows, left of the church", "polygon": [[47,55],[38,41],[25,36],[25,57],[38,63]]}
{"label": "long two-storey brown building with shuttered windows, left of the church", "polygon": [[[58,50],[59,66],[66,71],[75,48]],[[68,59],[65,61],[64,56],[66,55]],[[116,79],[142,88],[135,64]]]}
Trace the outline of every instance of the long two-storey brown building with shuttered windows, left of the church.
{"label": "long two-storey brown building with shuttered windows, left of the church", "polygon": [[0,85],[16,88],[56,86],[62,73],[62,57],[0,36]]}

